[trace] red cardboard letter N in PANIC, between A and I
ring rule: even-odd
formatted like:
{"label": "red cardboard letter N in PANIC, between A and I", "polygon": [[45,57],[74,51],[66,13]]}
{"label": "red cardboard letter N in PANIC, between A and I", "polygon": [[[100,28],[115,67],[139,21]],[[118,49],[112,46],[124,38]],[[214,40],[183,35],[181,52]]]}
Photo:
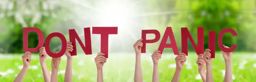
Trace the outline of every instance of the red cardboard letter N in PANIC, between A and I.
{"label": "red cardboard letter N in PANIC, between A and I", "polygon": [[192,43],[196,54],[204,54],[204,28],[198,28],[198,46],[195,45],[188,28],[181,28],[181,52],[188,55],[188,39]]}

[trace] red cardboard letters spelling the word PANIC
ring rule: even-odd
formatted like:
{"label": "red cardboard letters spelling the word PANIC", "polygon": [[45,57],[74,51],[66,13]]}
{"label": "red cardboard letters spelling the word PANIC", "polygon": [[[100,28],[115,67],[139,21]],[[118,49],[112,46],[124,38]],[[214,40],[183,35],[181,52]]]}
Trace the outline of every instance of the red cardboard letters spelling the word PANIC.
{"label": "red cardboard letters spelling the word PANIC", "polygon": [[[235,30],[231,28],[225,28],[223,29],[220,34],[218,34],[218,47],[221,49],[221,51],[224,52],[232,52],[236,49],[237,45],[232,45],[230,48],[224,48],[222,44],[222,38],[223,35],[227,32],[230,32],[233,36],[237,36],[237,33]],[[156,37],[152,40],[146,40],[146,34],[154,34]],[[170,38],[171,43],[166,43],[168,37]],[[211,50],[211,58],[215,58],[215,37],[216,32],[215,31],[209,31],[209,49]],[[143,47],[142,47],[142,53],[146,53],[146,43],[154,43],[160,40],[160,32],[157,30],[142,30],[142,39],[143,39]],[[181,28],[181,52],[188,55],[188,39],[192,43],[193,48],[195,49],[195,52],[197,54],[204,54],[204,28],[199,27],[198,28],[198,45],[195,45],[194,40],[191,37],[191,34],[189,33],[188,28]],[[174,38],[174,34],[172,32],[172,27],[167,27],[165,33],[163,34],[162,41],[160,42],[160,45],[158,47],[158,50],[161,51],[161,54],[163,53],[164,48],[172,48],[175,55],[179,54],[179,50],[177,48],[177,44]]]}

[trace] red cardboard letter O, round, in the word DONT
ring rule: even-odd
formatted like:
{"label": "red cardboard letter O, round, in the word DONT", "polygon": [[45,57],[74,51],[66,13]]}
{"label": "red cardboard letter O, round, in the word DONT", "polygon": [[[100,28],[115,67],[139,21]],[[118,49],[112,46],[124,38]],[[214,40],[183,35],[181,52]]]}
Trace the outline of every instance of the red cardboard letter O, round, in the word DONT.
{"label": "red cardboard letter O, round, in the word DONT", "polygon": [[[50,50],[50,45],[49,44],[50,44],[50,40],[52,39],[52,37],[59,37],[61,39],[61,51],[58,54],[54,54]],[[65,54],[66,49],[67,49],[67,40],[64,37],[64,35],[62,35],[61,33],[54,32],[54,33],[49,34],[46,37],[46,40],[45,40],[45,51],[46,51],[46,53],[50,57],[52,57],[52,58],[61,57],[61,56],[63,56]]]}

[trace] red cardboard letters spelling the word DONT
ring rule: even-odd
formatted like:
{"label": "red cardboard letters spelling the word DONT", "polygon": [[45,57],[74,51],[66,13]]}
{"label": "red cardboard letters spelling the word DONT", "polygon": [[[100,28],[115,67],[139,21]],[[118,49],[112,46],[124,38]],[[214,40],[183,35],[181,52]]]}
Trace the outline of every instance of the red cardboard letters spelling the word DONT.
{"label": "red cardboard letters spelling the word DONT", "polygon": [[[92,34],[101,34],[101,52],[105,54],[105,57],[108,58],[108,35],[109,34],[117,34],[117,27],[93,27]],[[36,48],[28,48],[28,33],[36,32],[38,34],[38,46]],[[61,39],[61,51],[58,54],[54,54],[50,51],[49,42],[52,37],[58,37]],[[91,36],[90,36],[90,27],[84,28],[84,40],[85,45],[79,38],[75,29],[69,29],[69,39],[73,45],[73,51],[71,52],[71,56],[77,55],[76,53],[76,40],[79,42],[81,48],[83,49],[85,54],[92,54],[92,46],[91,46]],[[23,51],[37,52],[39,48],[44,45],[44,34],[39,28],[35,27],[24,27],[23,28]],[[67,40],[63,34],[54,32],[47,36],[45,40],[45,51],[50,57],[56,58],[61,57],[65,54],[67,49]]]}

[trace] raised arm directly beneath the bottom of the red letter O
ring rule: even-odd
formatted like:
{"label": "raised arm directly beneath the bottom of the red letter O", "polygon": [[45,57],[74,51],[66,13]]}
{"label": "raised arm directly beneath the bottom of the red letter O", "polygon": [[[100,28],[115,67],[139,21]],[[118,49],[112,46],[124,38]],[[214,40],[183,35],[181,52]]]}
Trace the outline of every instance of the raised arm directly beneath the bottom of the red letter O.
{"label": "raised arm directly beneath the bottom of the red letter O", "polygon": [[58,67],[61,62],[61,57],[52,58],[52,76],[51,82],[58,82]]}

